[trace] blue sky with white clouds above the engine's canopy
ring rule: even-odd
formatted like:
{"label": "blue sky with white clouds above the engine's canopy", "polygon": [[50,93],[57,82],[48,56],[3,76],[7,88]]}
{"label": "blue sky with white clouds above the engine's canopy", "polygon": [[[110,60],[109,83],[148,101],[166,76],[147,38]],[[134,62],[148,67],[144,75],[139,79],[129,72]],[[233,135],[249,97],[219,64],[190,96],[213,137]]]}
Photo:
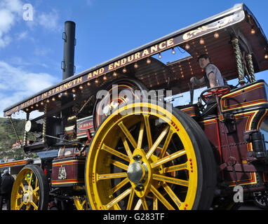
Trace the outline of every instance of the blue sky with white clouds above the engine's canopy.
{"label": "blue sky with white clouds above the engine's canopy", "polygon": [[[243,2],[268,35],[268,1]],[[6,107],[62,80],[66,20],[76,22],[74,64],[79,73],[235,3],[241,2],[0,0],[0,116]],[[267,74],[258,73],[257,78],[267,80]]]}

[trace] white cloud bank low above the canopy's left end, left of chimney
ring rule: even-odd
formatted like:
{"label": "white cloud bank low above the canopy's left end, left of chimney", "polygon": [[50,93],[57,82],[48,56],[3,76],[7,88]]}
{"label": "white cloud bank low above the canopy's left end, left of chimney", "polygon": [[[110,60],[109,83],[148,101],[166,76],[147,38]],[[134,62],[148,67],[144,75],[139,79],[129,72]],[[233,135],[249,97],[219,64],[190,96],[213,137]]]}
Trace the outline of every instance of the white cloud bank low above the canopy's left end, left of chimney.
{"label": "white cloud bank low above the canopy's left end, left of chimney", "polygon": [[8,106],[58,82],[48,73],[32,73],[0,61],[0,116]]}

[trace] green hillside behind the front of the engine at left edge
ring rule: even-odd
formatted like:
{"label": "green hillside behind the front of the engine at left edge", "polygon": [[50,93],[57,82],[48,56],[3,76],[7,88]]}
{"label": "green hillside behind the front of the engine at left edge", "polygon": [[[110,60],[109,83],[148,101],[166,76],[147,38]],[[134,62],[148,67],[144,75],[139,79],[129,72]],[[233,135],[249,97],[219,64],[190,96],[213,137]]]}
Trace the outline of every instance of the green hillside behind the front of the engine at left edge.
{"label": "green hillside behind the front of the engine at left edge", "polygon": [[[20,140],[23,140],[25,120],[13,119],[13,123]],[[0,118],[0,160],[22,160],[23,158],[32,157],[32,155],[27,155],[22,148],[12,150],[12,145],[16,141],[17,137],[11,125],[10,118]]]}

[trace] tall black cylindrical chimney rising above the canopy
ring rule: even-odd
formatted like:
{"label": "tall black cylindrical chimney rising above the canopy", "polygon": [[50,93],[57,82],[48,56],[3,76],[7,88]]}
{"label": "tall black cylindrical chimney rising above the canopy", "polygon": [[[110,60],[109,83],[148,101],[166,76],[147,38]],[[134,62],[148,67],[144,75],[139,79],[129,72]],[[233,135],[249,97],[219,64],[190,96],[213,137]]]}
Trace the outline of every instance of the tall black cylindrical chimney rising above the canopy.
{"label": "tall black cylindrical chimney rising above the canopy", "polygon": [[65,31],[62,33],[63,61],[62,61],[62,80],[74,75],[74,45],[75,45],[75,23],[65,22]]}

